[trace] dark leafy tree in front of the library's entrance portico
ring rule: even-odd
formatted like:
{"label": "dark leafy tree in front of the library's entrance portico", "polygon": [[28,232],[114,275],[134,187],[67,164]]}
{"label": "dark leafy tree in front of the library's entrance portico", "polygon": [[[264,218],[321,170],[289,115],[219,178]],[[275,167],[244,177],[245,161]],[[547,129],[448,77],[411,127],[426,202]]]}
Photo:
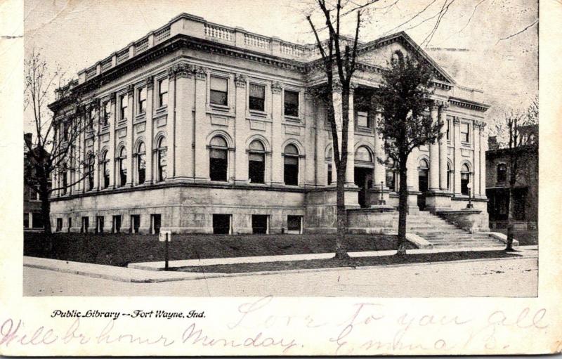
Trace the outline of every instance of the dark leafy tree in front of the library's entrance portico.
{"label": "dark leafy tree in front of the library's entrance portico", "polygon": [[409,57],[393,60],[383,74],[383,85],[374,95],[374,105],[381,110],[377,131],[384,140],[384,150],[398,167],[398,250],[406,254],[407,158],[414,148],[435,143],[442,134],[440,122],[432,122],[424,112],[430,105],[431,68]]}

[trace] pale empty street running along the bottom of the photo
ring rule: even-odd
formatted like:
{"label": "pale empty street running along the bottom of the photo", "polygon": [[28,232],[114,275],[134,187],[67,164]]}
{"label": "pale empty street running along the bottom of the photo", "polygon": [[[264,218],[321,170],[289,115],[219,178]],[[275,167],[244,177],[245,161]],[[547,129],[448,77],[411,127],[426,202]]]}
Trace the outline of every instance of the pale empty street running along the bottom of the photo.
{"label": "pale empty street running along the bottom of the photo", "polygon": [[24,296],[536,296],[538,260],[492,259],[307,270],[159,283],[23,268]]}

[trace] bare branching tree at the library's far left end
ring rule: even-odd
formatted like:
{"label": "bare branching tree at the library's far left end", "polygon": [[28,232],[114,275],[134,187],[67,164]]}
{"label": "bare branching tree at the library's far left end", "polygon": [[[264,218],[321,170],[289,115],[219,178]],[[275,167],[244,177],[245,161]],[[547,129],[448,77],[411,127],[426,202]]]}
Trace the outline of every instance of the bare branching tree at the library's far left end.
{"label": "bare branching tree at the library's far left end", "polygon": [[[27,161],[24,181],[39,193],[44,233],[51,233],[51,193],[65,192],[84,178],[92,178],[91,164],[79,156],[77,147],[81,134],[91,134],[98,103],[89,102],[79,91],[64,84],[64,73],[60,68],[49,71],[46,60],[34,49],[25,60],[24,106],[32,113],[32,141],[25,141]],[[64,91],[67,110],[51,112],[48,103],[55,91]],[[62,96],[61,96],[62,97]],[[91,141],[95,136],[91,136]],[[60,181],[51,185],[53,174]],[[71,176],[72,174],[72,176]]]}

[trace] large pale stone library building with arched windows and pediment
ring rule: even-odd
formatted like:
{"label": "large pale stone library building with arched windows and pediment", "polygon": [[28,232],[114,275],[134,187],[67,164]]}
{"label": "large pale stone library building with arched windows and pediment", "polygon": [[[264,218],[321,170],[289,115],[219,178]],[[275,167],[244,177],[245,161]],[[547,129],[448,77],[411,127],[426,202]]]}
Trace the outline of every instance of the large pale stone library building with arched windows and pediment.
{"label": "large pale stone library building with arched windows and pediment", "polygon": [[[410,206],[464,209],[485,197],[483,93],[460,86],[404,32],[360,43],[353,99],[368,98],[394,58],[433,67],[427,115],[443,139],[410,156]],[[82,70],[49,107],[65,141],[69,91],[91,96],[91,130],[75,144],[91,176],[51,197],[53,228],[156,233],[320,233],[335,230],[335,165],[320,53],[181,14]],[[341,96],[334,89],[339,106]],[[363,101],[365,103],[365,101]],[[88,105],[88,104],[86,104]],[[351,107],[346,205],[398,206],[395,169],[376,132],[379,114]],[[96,110],[99,109],[99,110]],[[340,114],[341,115],[341,114]],[[74,183],[55,174],[53,183]],[[82,172],[86,173],[86,172]],[[60,226],[58,226],[60,227]]]}

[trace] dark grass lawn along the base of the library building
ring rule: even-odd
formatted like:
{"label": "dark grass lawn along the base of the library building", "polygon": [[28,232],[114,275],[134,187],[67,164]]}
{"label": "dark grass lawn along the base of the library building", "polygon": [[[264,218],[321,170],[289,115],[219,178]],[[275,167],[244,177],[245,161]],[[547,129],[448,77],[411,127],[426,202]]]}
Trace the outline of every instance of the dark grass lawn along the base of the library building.
{"label": "dark grass lawn along the base of the library building", "polygon": [[[65,261],[127,266],[162,261],[157,235],[53,233],[44,250],[43,233],[24,233],[23,254]],[[333,252],[335,235],[172,235],[169,259],[228,258]],[[396,235],[349,235],[348,252],[396,249]],[[414,248],[411,246],[411,248]]]}

